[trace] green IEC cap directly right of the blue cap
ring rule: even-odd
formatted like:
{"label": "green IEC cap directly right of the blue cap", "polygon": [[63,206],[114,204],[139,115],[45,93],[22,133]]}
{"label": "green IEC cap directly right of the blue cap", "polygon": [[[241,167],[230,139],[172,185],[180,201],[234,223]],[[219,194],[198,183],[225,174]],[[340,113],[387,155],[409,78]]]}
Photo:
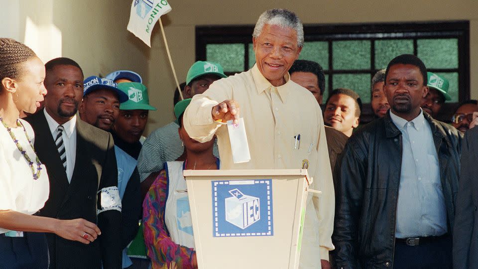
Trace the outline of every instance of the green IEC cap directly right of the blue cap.
{"label": "green IEC cap directly right of the blue cap", "polygon": [[148,89],[139,82],[123,82],[118,84],[118,89],[128,96],[128,100],[119,105],[120,110],[156,110],[149,105]]}

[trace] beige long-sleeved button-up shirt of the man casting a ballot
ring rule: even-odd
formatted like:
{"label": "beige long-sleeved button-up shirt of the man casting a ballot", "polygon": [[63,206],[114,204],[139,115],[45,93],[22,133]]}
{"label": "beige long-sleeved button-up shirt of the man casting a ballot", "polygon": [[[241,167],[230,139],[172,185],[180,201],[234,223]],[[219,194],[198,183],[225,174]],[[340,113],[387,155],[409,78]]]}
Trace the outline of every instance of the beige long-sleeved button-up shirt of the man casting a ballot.
{"label": "beige long-sleeved button-up shirt of the man casting a ballot", "polygon": [[[320,259],[328,260],[328,251],[334,249],[335,195],[324,121],[312,94],[290,80],[289,74],[285,80],[282,86],[272,86],[256,65],[218,80],[204,94],[194,96],[183,123],[188,134],[201,142],[217,134],[221,169],[298,169],[304,159],[309,160],[311,188],[322,194],[308,196],[313,203],[306,208],[300,267],[320,268]],[[240,106],[249,162],[233,162],[227,126],[212,119],[212,107],[224,100],[235,100]],[[294,149],[294,136],[299,134],[300,146]]]}

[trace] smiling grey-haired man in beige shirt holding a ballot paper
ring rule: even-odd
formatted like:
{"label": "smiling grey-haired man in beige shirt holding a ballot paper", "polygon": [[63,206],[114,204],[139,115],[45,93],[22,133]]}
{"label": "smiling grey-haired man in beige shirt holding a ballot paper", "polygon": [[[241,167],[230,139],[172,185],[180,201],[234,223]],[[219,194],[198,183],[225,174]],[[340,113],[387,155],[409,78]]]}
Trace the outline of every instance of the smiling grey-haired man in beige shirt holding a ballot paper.
{"label": "smiling grey-haired man in beige shirt holding a ballot paper", "polygon": [[[288,73],[302,50],[302,23],[289,10],[270,9],[260,15],[252,36],[256,64],[194,96],[184,126],[201,142],[217,135],[221,169],[293,169],[308,161],[315,179],[312,188],[322,194],[309,195],[299,267],[320,268],[322,262],[329,268],[334,187],[322,113],[312,93],[290,80]],[[224,124],[239,120],[239,115],[250,148],[251,160],[245,163],[233,162]],[[291,137],[299,134],[300,146],[294,149]]]}

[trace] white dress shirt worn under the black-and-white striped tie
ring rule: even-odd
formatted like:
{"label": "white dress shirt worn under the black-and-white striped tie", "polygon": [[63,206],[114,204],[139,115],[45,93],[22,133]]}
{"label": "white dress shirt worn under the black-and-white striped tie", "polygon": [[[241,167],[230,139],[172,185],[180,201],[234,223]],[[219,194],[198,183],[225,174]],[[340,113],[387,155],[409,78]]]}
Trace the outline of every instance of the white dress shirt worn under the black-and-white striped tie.
{"label": "white dress shirt worn under the black-and-white striped tie", "polygon": [[[50,127],[51,135],[55,139],[57,134],[58,126],[60,126],[53,118],[46,112],[46,109],[43,110],[45,113],[46,121],[48,122],[48,127]],[[73,176],[73,169],[75,168],[76,160],[76,115],[71,118],[68,122],[62,124],[65,129],[61,134],[63,143],[65,144],[66,151],[66,176],[68,177],[68,182],[71,182],[71,177]]]}

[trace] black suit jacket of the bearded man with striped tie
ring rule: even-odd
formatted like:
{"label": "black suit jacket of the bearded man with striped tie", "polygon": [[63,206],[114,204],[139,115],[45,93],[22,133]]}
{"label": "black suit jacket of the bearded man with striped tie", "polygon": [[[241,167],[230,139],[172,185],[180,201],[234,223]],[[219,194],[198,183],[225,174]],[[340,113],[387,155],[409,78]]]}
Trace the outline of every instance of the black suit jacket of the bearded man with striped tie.
{"label": "black suit jacket of the bearded man with striped tie", "polygon": [[88,245],[47,234],[50,268],[121,268],[120,212],[97,216],[98,191],[118,185],[114,142],[111,134],[77,117],[76,160],[71,183],[60,160],[43,110],[25,119],[35,132],[35,151],[46,166],[50,196],[40,210],[44,217],[62,220],[82,218],[96,223],[102,234]]}

